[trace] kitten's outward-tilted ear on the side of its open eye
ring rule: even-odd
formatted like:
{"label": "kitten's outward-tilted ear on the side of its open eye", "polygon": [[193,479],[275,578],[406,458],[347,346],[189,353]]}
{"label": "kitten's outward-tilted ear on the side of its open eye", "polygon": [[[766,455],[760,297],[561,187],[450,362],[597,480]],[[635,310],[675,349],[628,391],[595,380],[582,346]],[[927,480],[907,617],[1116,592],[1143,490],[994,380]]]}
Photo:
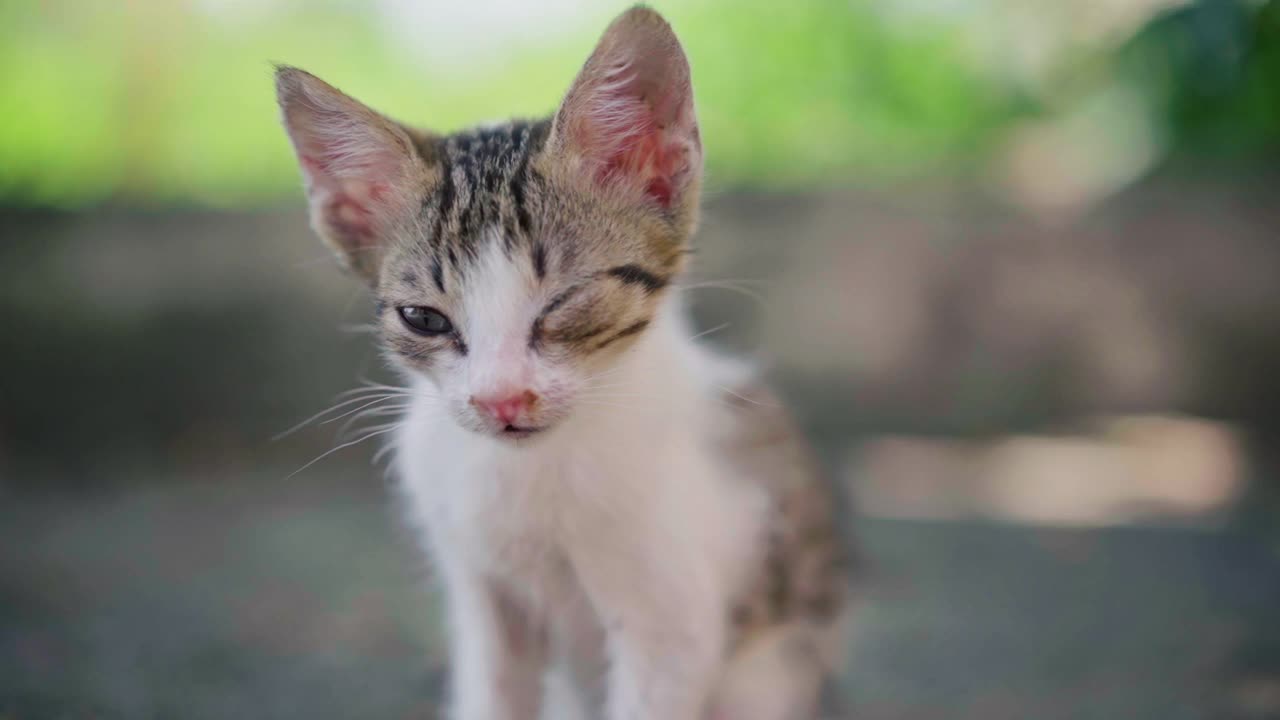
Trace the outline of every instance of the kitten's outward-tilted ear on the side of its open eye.
{"label": "kitten's outward-tilted ear on the side of its open eye", "polygon": [[282,67],[275,90],[306,181],[311,225],[374,284],[388,232],[421,197],[426,163],[410,131],[310,73]]}

